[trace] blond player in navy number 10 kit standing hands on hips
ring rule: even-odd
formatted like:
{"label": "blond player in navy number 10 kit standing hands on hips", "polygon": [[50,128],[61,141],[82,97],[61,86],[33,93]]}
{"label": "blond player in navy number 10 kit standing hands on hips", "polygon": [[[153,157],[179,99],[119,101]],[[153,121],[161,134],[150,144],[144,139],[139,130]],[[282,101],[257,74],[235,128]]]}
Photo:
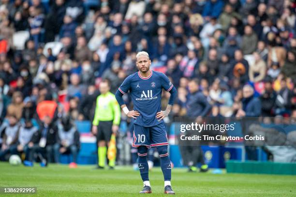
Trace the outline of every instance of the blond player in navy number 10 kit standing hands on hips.
{"label": "blond player in navy number 10 kit standing hands on hips", "polygon": [[[163,118],[172,109],[177,90],[169,79],[161,72],[150,70],[151,60],[145,51],[136,55],[138,72],[129,75],[118,88],[116,99],[125,114],[133,118],[133,147],[137,147],[139,170],[144,182],[140,193],[152,193],[148,178],[148,148],[156,147],[161,159],[164,177],[164,193],[175,194],[171,187],[171,162],[168,156],[168,140]],[[162,90],[171,93],[167,108],[161,111]],[[122,95],[130,91],[133,100],[133,110],[129,111]]]}

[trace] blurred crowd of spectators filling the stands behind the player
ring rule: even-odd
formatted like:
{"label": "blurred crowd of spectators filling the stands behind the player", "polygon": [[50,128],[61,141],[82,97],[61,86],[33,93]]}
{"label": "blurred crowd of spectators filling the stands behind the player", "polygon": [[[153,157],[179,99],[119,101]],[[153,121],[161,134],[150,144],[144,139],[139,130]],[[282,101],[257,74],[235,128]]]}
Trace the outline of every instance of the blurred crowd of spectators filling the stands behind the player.
{"label": "blurred crowd of spectators filling the stands behind the player", "polygon": [[100,81],[115,93],[139,51],[178,89],[169,121],[296,117],[293,0],[1,0],[0,122],[92,121]]}

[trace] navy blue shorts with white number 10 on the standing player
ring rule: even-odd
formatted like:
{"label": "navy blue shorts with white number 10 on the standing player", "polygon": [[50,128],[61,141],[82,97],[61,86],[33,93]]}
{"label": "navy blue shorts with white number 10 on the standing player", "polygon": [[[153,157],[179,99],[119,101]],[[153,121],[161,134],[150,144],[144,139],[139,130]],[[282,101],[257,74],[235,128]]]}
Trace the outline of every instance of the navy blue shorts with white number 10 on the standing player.
{"label": "navy blue shorts with white number 10 on the standing player", "polygon": [[164,123],[152,127],[133,124],[133,147],[168,145]]}

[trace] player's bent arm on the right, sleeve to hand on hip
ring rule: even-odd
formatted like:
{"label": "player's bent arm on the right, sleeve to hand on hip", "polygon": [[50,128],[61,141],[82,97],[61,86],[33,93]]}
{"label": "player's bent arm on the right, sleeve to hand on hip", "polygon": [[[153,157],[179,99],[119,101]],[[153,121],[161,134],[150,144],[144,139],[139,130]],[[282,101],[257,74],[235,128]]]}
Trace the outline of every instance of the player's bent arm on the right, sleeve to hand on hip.
{"label": "player's bent arm on the right, sleeve to hand on hip", "polygon": [[165,111],[160,111],[156,113],[156,118],[162,120],[168,114],[171,112],[173,104],[175,99],[177,98],[177,89],[174,87],[174,85],[170,82],[170,80],[163,74],[162,76],[162,87],[165,89],[167,92],[171,94],[168,105],[165,109]]}

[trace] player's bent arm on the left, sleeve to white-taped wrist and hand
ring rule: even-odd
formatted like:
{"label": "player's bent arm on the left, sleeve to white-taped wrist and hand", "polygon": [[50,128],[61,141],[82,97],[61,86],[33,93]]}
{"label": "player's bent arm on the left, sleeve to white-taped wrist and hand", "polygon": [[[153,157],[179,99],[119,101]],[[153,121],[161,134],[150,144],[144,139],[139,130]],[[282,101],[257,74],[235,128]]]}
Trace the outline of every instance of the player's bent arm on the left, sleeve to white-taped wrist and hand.
{"label": "player's bent arm on the left, sleeve to white-taped wrist and hand", "polygon": [[123,110],[123,112],[130,118],[136,118],[136,116],[139,116],[140,113],[137,111],[129,111],[127,106],[124,103],[124,100],[122,99],[122,96],[127,94],[127,92],[131,88],[131,81],[130,77],[127,77],[124,82],[119,86],[118,90],[115,93],[115,98],[117,99],[117,102],[120,105],[120,108]]}

